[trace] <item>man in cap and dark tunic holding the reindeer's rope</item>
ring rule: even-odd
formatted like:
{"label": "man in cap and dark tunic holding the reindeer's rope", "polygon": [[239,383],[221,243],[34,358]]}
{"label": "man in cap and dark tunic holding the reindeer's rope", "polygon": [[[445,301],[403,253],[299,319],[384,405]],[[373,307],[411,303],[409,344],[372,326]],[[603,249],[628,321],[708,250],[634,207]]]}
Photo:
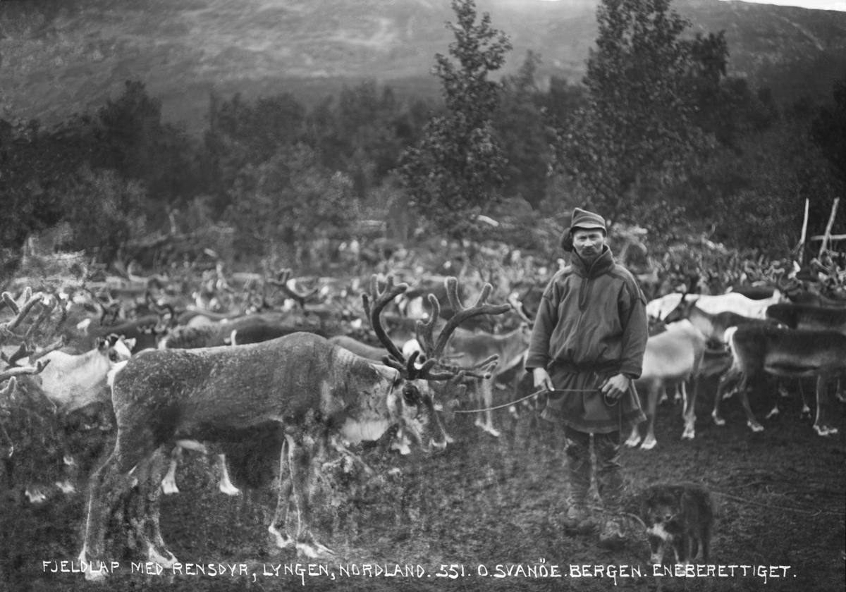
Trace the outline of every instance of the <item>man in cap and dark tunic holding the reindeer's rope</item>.
{"label": "man in cap and dark tunic holding the reindeer's rope", "polygon": [[575,252],[543,293],[525,368],[536,387],[551,391],[541,417],[560,421],[567,439],[564,528],[585,534],[596,526],[588,507],[593,435],[606,515],[600,543],[613,546],[624,541],[620,433],[645,419],[633,381],[643,364],[647,321],[640,287],[605,241],[605,220],[576,208],[561,240],[565,251]]}

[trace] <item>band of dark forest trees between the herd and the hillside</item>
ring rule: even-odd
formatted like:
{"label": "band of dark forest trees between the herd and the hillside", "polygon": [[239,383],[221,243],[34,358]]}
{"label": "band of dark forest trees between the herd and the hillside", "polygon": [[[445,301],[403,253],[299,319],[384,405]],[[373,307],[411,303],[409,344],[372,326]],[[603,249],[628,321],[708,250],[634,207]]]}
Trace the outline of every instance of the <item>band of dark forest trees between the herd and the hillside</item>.
{"label": "band of dark forest trees between the herd and the hillside", "polygon": [[584,79],[541,85],[535,52],[497,79],[507,31],[474,3],[453,9],[455,41],[433,67],[441,101],[375,80],[308,105],[211,93],[189,134],[129,79],[55,125],[5,113],[4,275],[27,238],[144,267],[211,249],[230,265],[317,269],[352,240],[372,254],[434,235],[554,260],[574,206],[601,212],[612,236],[636,229],[656,260],[703,240],[797,259],[806,200],[806,235],[826,229],[846,183],[846,79],[780,100],[727,74],[723,32],[690,35],[666,0],[602,3]]}

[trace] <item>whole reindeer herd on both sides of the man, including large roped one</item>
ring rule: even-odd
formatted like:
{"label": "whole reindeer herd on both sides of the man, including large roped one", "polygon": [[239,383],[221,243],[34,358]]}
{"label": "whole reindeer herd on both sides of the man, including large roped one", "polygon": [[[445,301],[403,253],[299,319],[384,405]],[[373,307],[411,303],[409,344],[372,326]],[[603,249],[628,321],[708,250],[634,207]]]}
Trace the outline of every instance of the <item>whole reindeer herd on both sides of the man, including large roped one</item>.
{"label": "whole reindeer herd on both sides of the man, including large roped one", "polygon": [[[655,326],[636,383],[648,421],[644,436],[634,428],[629,447],[656,446],[656,408],[673,386],[684,400],[682,437],[694,438],[700,379],[709,376],[719,377],[712,413],[717,425],[724,423],[722,399],[738,392],[750,428],[762,430],[750,389],[777,380],[801,390],[801,381],[813,378],[814,429],[821,436],[837,432],[830,415],[832,390],[846,375],[846,302],[781,280],[756,293],[758,299],[685,289],[648,304]],[[102,295],[33,294],[28,288],[17,297],[3,293],[0,439],[7,458],[14,458],[14,438],[3,418],[16,413],[22,397],[41,397],[60,416],[96,414],[96,427],[104,431],[113,430],[112,420],[117,425],[111,455],[89,477],[83,566],[104,560],[118,509],[129,514],[123,519],[134,539],[130,546],[151,562],[173,565],[160,531],[159,500],[179,491],[182,451],[216,454],[221,491],[237,495],[228,470],[238,468],[226,460],[233,447],[253,452],[266,474],[278,473],[268,526],[275,545],[310,557],[329,554],[310,515],[317,476],[331,458],[372,473],[354,452],[361,441],[384,441],[401,453],[446,447],[453,436],[445,411],[456,401],[480,412],[476,425],[482,430],[501,436],[492,410],[501,401],[494,393],[506,390],[497,395],[506,401],[532,394],[525,376],[520,380],[522,373],[513,370],[528,348],[538,287],[491,304],[486,284],[465,308],[457,280],[444,278],[441,297],[429,293],[425,317],[414,319],[402,313],[420,310],[409,304],[420,291],[393,277],[371,277],[367,291],[344,287],[336,299],[346,303],[343,310],[325,304],[334,297],[326,289],[331,283],[298,290],[286,271],[267,277],[266,286],[280,290],[288,304],[268,304],[262,286],[250,314],[212,312],[197,305],[196,294],[194,303],[180,303],[162,290],[158,297],[147,293],[147,313],[135,321],[118,321],[120,300],[104,302]],[[359,292],[356,305],[352,297]],[[324,304],[310,308],[321,298]],[[338,323],[327,329],[324,321],[332,315],[346,331]],[[839,390],[838,397],[843,400]],[[73,463],[69,452],[65,463]],[[29,489],[27,496],[33,503],[43,499]],[[292,507],[295,521],[288,518]],[[104,577],[96,568],[85,571],[86,578]]]}

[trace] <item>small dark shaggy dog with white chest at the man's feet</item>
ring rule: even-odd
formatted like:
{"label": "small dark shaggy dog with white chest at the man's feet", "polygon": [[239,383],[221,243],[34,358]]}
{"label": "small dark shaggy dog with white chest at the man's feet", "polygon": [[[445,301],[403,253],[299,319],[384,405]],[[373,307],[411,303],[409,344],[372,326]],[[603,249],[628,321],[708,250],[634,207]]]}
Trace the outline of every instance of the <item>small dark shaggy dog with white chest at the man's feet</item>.
{"label": "small dark shaggy dog with white chest at the man's feet", "polygon": [[650,563],[662,563],[668,549],[676,563],[708,562],[714,506],[702,485],[651,485],[643,493],[640,513],[652,551]]}

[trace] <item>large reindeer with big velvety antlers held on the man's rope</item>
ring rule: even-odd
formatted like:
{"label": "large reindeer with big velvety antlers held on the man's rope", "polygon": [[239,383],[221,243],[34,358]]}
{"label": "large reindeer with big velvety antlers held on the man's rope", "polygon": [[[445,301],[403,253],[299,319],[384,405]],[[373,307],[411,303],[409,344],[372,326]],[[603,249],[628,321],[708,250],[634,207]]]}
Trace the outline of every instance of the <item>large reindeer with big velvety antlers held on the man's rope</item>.
{"label": "large reindeer with big velvety antlers held on the man's rope", "polygon": [[[448,279],[451,291],[457,281]],[[306,556],[331,552],[310,529],[310,497],[316,471],[327,448],[380,438],[393,425],[428,446],[430,418],[435,414],[429,381],[457,376],[489,375],[497,360],[461,368],[439,358],[449,334],[475,315],[500,314],[507,306],[486,304],[486,286],[479,301],[461,310],[433,343],[421,323],[429,359],[418,367],[416,355],[406,359],[387,337],[379,315],[407,285],[387,285],[381,292],[371,278],[371,299],[365,310],[376,335],[390,353],[384,364],[363,359],[310,333],[295,333],[238,348],[155,350],[129,359],[113,377],[118,438],[112,455],[91,476],[91,496],[80,562],[89,579],[104,574],[91,569],[102,560],[110,515],[125,496],[136,514],[130,532],[153,562],[172,566],[176,558],[165,547],[159,529],[158,499],[162,463],[160,451],[177,443],[265,445],[267,435],[280,466],[276,513],[268,528],[279,547],[294,545]],[[427,442],[424,442],[424,436]],[[261,442],[261,443],[260,443]],[[134,491],[135,485],[139,491]],[[288,533],[288,507],[298,513],[295,533]],[[87,569],[85,567],[88,567]]]}

